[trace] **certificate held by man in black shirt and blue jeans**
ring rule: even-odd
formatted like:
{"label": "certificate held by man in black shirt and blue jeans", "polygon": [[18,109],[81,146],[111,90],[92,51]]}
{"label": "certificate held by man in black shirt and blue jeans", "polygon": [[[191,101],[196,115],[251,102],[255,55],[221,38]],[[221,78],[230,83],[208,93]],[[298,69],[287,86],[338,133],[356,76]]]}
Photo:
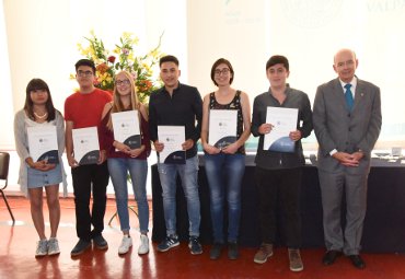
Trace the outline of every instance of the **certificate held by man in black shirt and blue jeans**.
{"label": "certificate held by man in black shirt and blue jeans", "polygon": [[158,138],[164,144],[162,152],[159,153],[160,163],[186,163],[186,151],[182,148],[186,141],[184,126],[158,126]]}

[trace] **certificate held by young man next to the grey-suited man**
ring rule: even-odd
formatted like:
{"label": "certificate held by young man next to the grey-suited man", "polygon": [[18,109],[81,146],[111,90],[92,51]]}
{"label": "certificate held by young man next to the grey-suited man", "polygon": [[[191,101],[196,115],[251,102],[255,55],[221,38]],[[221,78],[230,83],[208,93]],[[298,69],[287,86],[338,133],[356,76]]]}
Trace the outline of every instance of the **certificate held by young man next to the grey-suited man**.
{"label": "certificate held by young man next to the grey-suited man", "polygon": [[273,129],[264,138],[264,150],[294,152],[296,142],[290,139],[290,131],[297,130],[298,108],[267,107],[266,123]]}

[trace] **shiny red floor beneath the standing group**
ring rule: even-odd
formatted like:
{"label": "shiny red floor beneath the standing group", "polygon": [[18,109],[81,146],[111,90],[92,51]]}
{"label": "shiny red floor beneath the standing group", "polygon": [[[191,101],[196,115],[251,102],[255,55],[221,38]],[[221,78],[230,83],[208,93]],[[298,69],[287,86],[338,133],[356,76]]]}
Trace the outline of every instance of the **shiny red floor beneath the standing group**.
{"label": "shiny red floor beneath the standing group", "polygon": [[[120,257],[117,254],[121,233],[116,219],[107,224],[115,212],[115,201],[108,200],[105,214],[104,236],[109,248],[106,252],[91,249],[72,259],[70,251],[77,242],[74,229],[74,206],[72,199],[61,199],[61,220],[58,232],[61,254],[36,259],[34,257],[37,234],[31,220],[30,204],[21,197],[10,198],[18,220],[14,226],[3,200],[0,200],[0,278],[282,278],[282,279],[404,279],[405,255],[363,254],[364,270],[355,269],[345,257],[329,267],[321,264],[323,249],[301,252],[304,270],[291,272],[288,268],[286,248],[275,251],[274,257],[264,265],[253,263],[255,249],[241,248],[238,260],[228,260],[225,253],[219,260],[209,259],[209,246],[204,246],[202,255],[189,254],[186,243],[166,253],[159,253],[155,245],[148,255],[137,254],[139,233],[131,230],[134,248]],[[45,213],[47,213],[45,206]],[[130,213],[132,228],[137,218]],[[46,218],[47,220],[47,218]],[[151,225],[152,226],[152,225]],[[49,226],[46,228],[47,233]],[[405,237],[405,236],[404,236]]]}

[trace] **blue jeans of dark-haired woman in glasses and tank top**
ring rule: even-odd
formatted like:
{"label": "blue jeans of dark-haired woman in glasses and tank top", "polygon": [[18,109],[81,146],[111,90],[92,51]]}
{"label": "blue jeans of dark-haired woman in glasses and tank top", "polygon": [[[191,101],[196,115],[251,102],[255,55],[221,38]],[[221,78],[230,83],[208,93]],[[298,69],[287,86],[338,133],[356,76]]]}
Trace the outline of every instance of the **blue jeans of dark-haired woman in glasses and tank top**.
{"label": "blue jeans of dark-haired woman in glasses and tank top", "polygon": [[223,208],[228,205],[228,242],[238,241],[241,219],[241,185],[245,172],[245,155],[205,154],[206,174],[210,190],[213,241],[223,243]]}

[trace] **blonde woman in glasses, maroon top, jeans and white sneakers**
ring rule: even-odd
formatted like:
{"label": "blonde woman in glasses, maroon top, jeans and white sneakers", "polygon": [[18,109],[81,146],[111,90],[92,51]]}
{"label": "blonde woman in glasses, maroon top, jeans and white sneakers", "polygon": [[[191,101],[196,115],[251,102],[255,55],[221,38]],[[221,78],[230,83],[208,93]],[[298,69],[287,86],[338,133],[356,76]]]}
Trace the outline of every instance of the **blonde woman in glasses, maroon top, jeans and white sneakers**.
{"label": "blonde woman in glasses, maroon top, jeans and white sneakers", "polygon": [[[130,149],[127,144],[114,140],[114,129],[111,115],[126,111],[137,111],[141,131],[141,147]],[[131,73],[120,71],[115,77],[115,88],[113,102],[104,107],[101,132],[103,143],[107,151],[107,164],[113,182],[115,198],[117,204],[120,229],[124,233],[118,254],[126,254],[132,246],[129,235],[129,214],[128,214],[128,184],[127,173],[129,172],[135,200],[138,205],[140,246],[138,254],[149,252],[148,225],[149,225],[149,205],[147,199],[147,175],[150,154],[150,140],[148,129],[148,114],[146,107],[138,101],[135,79]]]}

